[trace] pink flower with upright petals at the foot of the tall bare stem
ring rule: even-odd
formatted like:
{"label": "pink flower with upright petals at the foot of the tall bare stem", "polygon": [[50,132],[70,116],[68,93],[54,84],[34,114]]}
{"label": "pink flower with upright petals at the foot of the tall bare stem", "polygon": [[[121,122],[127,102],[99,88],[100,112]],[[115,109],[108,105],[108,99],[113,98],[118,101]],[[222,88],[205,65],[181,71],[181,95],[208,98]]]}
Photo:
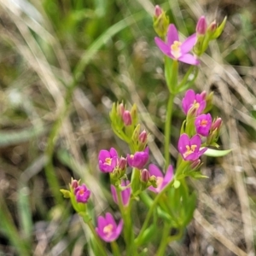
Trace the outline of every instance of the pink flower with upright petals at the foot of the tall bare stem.
{"label": "pink flower with upright petals at the foot of the tall bare stem", "polygon": [[164,176],[160,169],[157,166],[154,166],[153,164],[148,166],[148,172],[150,173],[151,176],[154,175],[156,177],[157,188],[154,188],[153,186],[148,187],[148,189],[153,191],[154,193],[160,193],[160,191],[164,189],[166,185],[172,181],[172,166],[168,166],[166,176]]}

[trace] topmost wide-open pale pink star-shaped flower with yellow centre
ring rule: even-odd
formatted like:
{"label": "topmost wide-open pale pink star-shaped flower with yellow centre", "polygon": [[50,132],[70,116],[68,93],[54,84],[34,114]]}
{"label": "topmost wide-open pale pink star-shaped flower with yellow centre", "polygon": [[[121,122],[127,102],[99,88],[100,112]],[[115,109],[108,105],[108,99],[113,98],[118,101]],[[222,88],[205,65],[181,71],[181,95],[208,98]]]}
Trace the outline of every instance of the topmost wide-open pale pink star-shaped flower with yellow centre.
{"label": "topmost wide-open pale pink star-shaped flower with yellow centre", "polygon": [[182,61],[190,65],[198,65],[200,62],[189,51],[196,43],[196,34],[191,35],[183,43],[178,39],[177,28],[171,24],[168,27],[167,43],[160,38],[154,38],[155,44],[168,57],[173,60]]}

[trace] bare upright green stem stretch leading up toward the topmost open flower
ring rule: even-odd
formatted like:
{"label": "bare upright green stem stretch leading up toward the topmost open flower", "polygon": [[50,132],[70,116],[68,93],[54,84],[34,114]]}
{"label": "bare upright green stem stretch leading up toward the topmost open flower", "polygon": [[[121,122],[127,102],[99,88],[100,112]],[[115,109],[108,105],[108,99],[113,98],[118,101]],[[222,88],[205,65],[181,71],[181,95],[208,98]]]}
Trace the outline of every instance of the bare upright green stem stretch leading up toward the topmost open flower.
{"label": "bare upright green stem stretch leading up toward the topmost open flower", "polygon": [[170,153],[169,153],[169,145],[171,142],[171,127],[172,127],[172,106],[174,100],[174,94],[170,94],[168,103],[167,103],[167,111],[166,111],[166,125],[165,125],[165,160],[166,160],[166,169],[170,165]]}

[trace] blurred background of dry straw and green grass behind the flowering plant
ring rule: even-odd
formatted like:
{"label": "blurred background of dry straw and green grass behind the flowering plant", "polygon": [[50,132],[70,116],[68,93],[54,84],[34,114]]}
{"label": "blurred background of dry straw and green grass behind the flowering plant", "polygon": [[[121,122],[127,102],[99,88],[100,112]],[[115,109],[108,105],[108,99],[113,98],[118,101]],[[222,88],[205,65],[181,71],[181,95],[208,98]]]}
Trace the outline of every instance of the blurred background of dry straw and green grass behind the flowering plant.
{"label": "blurred background of dry straw and green grass behind the flowering plant", "polygon": [[255,255],[254,0],[0,0],[0,255],[92,255],[88,232],[59,189],[81,178],[93,193],[91,211],[116,209],[97,168],[100,149],[128,152],[110,128],[113,102],[137,104],[151,133],[151,161],[163,166],[168,90],[154,44],[155,4],[184,37],[201,15],[209,23],[228,16],[201,57],[194,89],[214,91],[212,113],[224,120],[221,148],[233,151],[204,159],[209,178],[190,181],[199,197],[195,218],[168,255]]}

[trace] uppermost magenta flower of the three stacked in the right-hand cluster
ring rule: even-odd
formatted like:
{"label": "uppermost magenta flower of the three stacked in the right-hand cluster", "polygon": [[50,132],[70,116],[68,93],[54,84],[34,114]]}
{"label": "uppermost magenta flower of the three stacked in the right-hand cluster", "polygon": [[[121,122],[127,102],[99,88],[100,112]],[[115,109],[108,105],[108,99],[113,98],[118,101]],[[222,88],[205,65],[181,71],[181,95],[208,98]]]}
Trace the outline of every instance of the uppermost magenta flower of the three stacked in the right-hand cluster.
{"label": "uppermost magenta flower of the three stacked in the right-hand cluster", "polygon": [[207,106],[207,102],[201,94],[195,94],[194,90],[187,90],[182,101],[183,112],[188,114],[190,108],[195,108],[195,115],[199,115]]}

